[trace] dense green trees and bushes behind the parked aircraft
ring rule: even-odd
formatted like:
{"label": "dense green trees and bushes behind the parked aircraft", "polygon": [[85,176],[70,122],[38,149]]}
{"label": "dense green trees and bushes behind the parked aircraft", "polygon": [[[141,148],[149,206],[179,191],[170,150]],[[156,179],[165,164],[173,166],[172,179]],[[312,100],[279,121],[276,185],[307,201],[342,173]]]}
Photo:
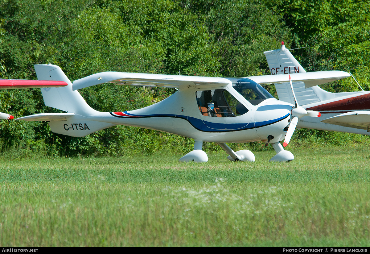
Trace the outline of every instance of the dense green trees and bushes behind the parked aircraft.
{"label": "dense green trees and bushes behind the parked aircraft", "polygon": [[[0,78],[36,79],[33,65],[60,66],[72,81],[101,71],[252,76],[268,74],[265,50],[281,40],[307,70],[349,70],[369,90],[369,11],[361,1],[298,0],[3,0]],[[268,86],[275,94],[275,88]],[[358,90],[353,79],[324,87]],[[99,111],[148,106],[171,89],[101,85],[80,90]],[[0,111],[15,117],[58,112],[39,90],[2,90]],[[312,133],[318,138],[320,132]],[[334,135],[334,134],[333,134]],[[337,142],[346,140],[338,135]],[[341,136],[342,135],[342,136]],[[344,135],[344,136],[343,136]],[[308,137],[308,136],[307,136]],[[342,140],[342,141],[340,141]],[[47,123],[1,121],[0,154],[115,156],[192,149],[184,137],[111,127],[83,138],[50,132]],[[250,144],[256,149],[268,149]],[[208,151],[220,149],[205,144]]]}

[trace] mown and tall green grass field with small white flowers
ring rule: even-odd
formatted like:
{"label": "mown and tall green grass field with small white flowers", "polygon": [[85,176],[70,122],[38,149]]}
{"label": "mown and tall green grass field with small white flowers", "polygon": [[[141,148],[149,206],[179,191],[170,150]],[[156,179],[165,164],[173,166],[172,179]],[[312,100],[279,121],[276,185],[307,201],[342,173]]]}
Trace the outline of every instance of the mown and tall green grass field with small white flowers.
{"label": "mown and tall green grass field with small white flowers", "polygon": [[369,246],[370,147],[0,158],[0,246]]}

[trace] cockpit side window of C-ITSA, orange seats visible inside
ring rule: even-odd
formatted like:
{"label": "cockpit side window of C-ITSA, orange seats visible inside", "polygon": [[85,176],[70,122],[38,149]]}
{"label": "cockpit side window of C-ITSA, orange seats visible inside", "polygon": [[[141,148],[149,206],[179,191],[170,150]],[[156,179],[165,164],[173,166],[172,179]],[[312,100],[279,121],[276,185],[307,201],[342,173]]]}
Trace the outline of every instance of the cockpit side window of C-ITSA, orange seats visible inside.
{"label": "cockpit side window of C-ITSA, orange seats visible inside", "polygon": [[196,101],[203,116],[234,117],[248,112],[248,108],[225,89],[196,91]]}

